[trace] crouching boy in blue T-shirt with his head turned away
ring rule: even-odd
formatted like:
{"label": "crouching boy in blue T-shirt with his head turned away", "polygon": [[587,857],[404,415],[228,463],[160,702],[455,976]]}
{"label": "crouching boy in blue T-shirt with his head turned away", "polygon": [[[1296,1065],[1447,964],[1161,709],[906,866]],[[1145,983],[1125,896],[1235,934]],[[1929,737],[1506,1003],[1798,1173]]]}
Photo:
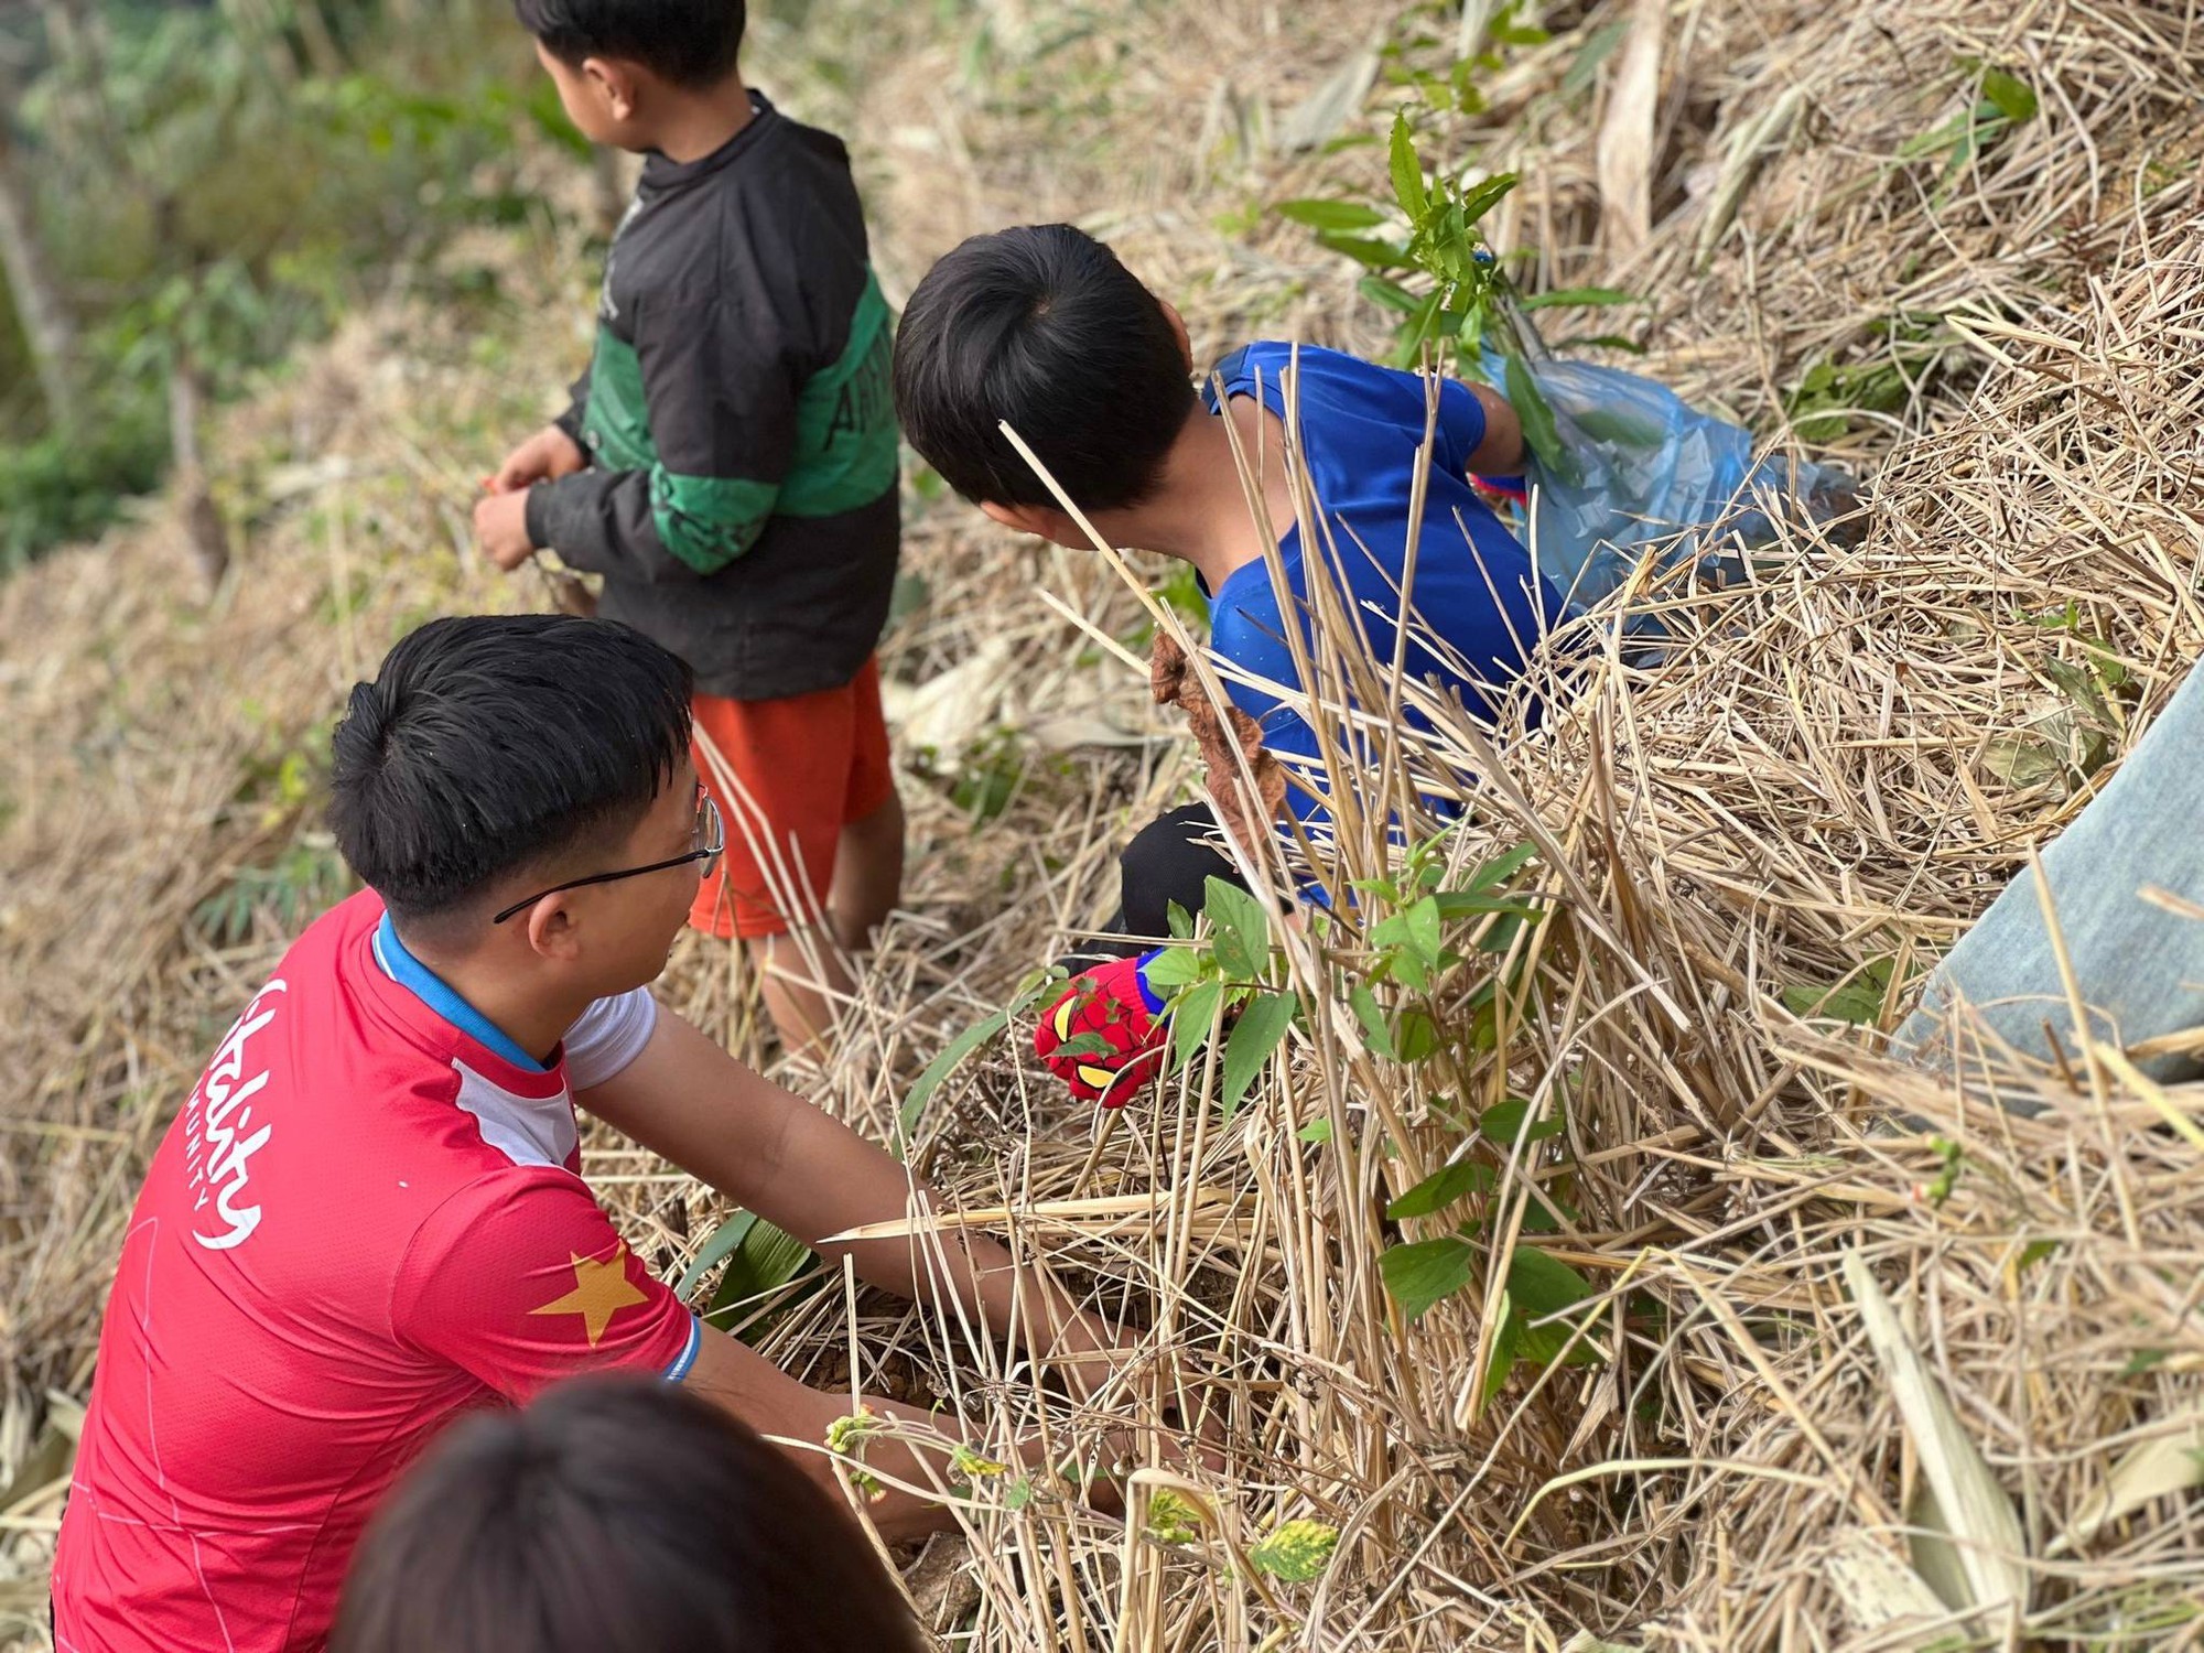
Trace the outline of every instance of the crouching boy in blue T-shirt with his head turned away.
{"label": "crouching boy in blue T-shirt with his head turned away", "polygon": [[[1404,593],[1428,381],[1336,350],[1298,350],[1298,445],[1329,529],[1322,544],[1305,547],[1276,461],[1294,364],[1294,346],[1247,344],[1197,395],[1179,313],[1091,236],[1040,225],[974,236],[928,271],[897,335],[895,401],[912,447],[996,522],[1087,544],[998,430],[1007,421],[1111,544],[1192,564],[1210,597],[1212,648],[1247,674],[1298,683],[1265,562],[1274,544],[1303,637],[1309,558],[1322,558],[1371,659],[1391,666],[1406,608],[1404,677],[1490,716],[1499,690],[1563,615],[1560,595],[1470,483],[1521,469],[1514,410],[1483,386],[1439,383],[1415,580]],[[1267,531],[1247,509],[1232,428],[1247,454],[1272,456],[1261,467]],[[1316,730],[1265,690],[1228,679],[1228,692],[1263,745],[1287,760],[1287,807],[1322,829]],[[1210,829],[1208,811],[1195,807],[1135,838],[1113,928],[1159,937],[1168,901],[1199,908],[1203,877],[1232,877],[1230,860],[1203,844]],[[1122,1102],[1162,1058],[1159,1009],[1142,957],[1117,959],[1087,972],[1042,1016],[1042,1056],[1080,1095]],[[1078,1034],[1098,1034],[1109,1054],[1054,1058]]]}

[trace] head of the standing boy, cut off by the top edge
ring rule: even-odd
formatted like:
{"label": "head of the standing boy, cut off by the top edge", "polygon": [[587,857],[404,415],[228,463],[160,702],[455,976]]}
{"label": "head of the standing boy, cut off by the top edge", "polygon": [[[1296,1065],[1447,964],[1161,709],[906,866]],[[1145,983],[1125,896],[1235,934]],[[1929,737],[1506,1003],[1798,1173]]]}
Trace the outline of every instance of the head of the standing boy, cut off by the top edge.
{"label": "head of the standing boy, cut off by the top edge", "polygon": [[696,104],[741,95],[743,0],[514,0],[514,13],[591,143],[655,150]]}

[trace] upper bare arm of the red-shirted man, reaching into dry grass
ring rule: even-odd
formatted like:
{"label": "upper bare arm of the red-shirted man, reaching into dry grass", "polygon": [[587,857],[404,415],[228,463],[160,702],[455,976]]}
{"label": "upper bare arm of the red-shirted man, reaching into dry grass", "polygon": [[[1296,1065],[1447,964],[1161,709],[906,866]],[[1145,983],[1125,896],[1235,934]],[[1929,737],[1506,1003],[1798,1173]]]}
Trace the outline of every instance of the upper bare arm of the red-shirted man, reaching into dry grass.
{"label": "upper bare arm of the red-shirted man, reaching into dry grass", "polygon": [[1115,1338],[981,1234],[820,1245],[827,1234],[899,1221],[932,1195],[897,1159],[672,1012],[661,1007],[641,1056],[580,1102],[829,1261],[849,1254],[868,1285],[943,1307],[952,1300],[994,1336],[1076,1362],[1071,1375],[1087,1389],[1109,1375],[1104,1351]]}

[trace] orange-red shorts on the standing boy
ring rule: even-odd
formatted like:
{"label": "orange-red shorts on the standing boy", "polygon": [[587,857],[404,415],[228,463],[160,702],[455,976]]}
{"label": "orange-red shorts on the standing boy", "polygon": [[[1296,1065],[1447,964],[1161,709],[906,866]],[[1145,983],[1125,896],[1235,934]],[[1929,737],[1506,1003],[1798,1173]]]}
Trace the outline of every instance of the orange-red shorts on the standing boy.
{"label": "orange-red shorts on the standing boy", "polygon": [[[727,820],[727,853],[696,890],[690,928],[747,939],[820,923],[842,827],[871,815],[895,791],[879,659],[866,659],[849,683],[818,694],[785,701],[699,694],[690,705],[696,776]],[[734,771],[732,785],[723,767]]]}

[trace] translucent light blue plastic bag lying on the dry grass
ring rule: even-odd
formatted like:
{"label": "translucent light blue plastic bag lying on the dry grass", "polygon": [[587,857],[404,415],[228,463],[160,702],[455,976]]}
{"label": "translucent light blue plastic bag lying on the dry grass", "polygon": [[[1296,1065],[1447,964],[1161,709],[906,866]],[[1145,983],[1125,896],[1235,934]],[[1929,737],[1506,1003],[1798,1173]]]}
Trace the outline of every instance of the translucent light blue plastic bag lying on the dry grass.
{"label": "translucent light blue plastic bag lying on the dry grass", "polygon": [[[1649,551],[1662,571],[1697,560],[1719,584],[1776,538],[1770,511],[1827,522],[1858,507],[1845,472],[1781,454],[1754,458],[1752,432],[1697,412],[1653,379],[1558,357],[1503,359],[1490,348],[1483,366],[1503,395],[1516,392],[1519,412],[1516,375],[1525,372],[1554,412],[1558,463],[1525,461],[1523,542],[1571,613],[1620,591]],[[1624,630],[1657,635],[1662,626],[1635,613]]]}

